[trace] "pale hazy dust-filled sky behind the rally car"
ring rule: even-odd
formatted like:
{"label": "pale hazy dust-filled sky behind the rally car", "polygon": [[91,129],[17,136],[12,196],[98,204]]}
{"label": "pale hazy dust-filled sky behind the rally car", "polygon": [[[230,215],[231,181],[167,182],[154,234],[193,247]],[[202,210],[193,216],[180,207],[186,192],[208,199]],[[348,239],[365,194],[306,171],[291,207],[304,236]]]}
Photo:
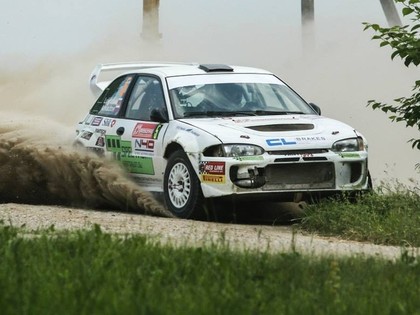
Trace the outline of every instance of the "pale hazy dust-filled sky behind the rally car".
{"label": "pale hazy dust-filled sky behind the rally car", "polygon": [[298,0],[160,0],[157,41],[141,36],[142,1],[0,1],[1,110],[73,128],[94,101],[87,82],[97,63],[255,66],[362,132],[374,180],[420,178],[419,152],[407,143],[418,131],[366,107],[409,95],[419,79],[363,31],[363,22],[386,26],[379,0],[315,0],[312,41],[303,40]]}

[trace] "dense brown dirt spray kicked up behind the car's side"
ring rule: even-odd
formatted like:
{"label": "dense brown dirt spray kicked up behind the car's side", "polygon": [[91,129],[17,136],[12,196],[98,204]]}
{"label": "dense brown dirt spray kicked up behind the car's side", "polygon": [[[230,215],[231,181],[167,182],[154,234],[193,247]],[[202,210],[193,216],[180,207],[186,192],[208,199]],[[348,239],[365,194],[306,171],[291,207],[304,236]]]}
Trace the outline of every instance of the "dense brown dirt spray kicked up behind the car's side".
{"label": "dense brown dirt spray kicked up behind the car's side", "polygon": [[171,216],[116,163],[73,148],[64,126],[41,117],[0,115],[0,202]]}

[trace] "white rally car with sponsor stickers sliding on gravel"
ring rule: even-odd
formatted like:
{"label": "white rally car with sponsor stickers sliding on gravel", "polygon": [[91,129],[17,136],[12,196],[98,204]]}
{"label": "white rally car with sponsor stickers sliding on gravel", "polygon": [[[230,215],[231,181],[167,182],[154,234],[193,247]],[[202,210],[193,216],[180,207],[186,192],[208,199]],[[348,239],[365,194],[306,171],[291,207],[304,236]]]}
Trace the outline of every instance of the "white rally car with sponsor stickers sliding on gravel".
{"label": "white rally car with sponsor stickers sliding on gravel", "polygon": [[102,64],[90,87],[98,98],[75,144],[120,162],[178,217],[202,216],[208,198],[296,201],[371,188],[363,135],[268,71]]}

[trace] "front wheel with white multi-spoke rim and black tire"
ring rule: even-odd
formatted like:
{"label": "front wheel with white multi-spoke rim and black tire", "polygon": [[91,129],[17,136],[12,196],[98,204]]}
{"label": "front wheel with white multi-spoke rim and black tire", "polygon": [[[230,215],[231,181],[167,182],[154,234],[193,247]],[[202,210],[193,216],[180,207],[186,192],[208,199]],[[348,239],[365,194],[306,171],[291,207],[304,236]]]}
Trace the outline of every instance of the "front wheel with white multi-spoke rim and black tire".
{"label": "front wheel with white multi-spoke rim and black tire", "polygon": [[191,163],[183,151],[175,151],[168,160],[163,180],[167,209],[178,218],[201,219],[205,200]]}

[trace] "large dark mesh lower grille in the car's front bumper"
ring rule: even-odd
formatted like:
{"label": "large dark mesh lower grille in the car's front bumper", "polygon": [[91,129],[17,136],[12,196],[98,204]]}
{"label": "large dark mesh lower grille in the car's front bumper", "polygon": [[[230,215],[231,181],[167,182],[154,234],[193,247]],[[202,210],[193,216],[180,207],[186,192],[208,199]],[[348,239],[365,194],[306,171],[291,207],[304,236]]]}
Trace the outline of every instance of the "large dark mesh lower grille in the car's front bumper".
{"label": "large dark mesh lower grille in the car's front bumper", "polygon": [[334,163],[283,163],[265,168],[263,190],[310,190],[335,187]]}

